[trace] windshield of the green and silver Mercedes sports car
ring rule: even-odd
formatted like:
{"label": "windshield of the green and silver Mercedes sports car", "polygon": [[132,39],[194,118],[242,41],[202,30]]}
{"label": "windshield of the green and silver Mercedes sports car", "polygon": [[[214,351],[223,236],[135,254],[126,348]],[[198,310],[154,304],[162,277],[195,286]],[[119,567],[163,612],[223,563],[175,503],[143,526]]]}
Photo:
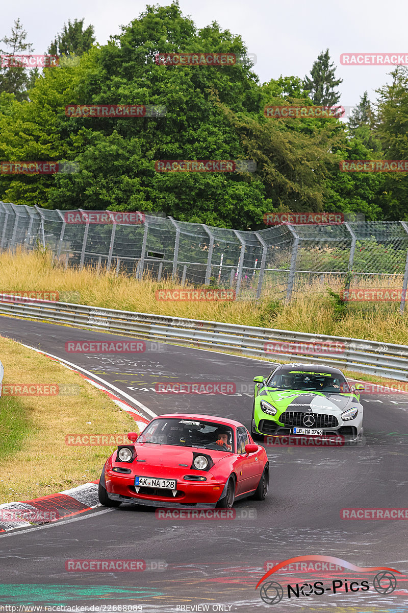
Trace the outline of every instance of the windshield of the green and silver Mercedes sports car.
{"label": "windshield of the green and silver Mercedes sports car", "polygon": [[349,394],[351,387],[342,375],[300,370],[279,370],[267,381],[268,387],[299,391],[321,392],[322,394]]}

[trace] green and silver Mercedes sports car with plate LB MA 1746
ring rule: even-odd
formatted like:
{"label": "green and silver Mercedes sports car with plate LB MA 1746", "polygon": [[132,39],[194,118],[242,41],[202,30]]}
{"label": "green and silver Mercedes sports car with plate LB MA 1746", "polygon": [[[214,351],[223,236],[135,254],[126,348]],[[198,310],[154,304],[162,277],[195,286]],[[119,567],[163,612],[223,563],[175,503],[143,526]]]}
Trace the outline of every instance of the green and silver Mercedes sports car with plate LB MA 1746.
{"label": "green and silver Mercedes sports car with plate LB MA 1746", "polygon": [[363,435],[363,384],[351,385],[341,370],[319,364],[282,364],[254,378],[252,435]]}

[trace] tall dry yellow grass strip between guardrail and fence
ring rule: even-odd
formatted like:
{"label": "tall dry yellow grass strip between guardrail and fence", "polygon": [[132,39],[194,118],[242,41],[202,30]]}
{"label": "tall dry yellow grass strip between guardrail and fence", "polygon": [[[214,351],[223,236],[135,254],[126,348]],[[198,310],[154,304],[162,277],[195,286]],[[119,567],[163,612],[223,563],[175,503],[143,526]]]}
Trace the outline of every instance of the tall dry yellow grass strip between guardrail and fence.
{"label": "tall dry yellow grass strip between guardrail and fence", "polygon": [[[402,281],[401,276],[388,278],[386,282],[367,282],[355,277],[352,283],[353,288],[401,287]],[[349,303],[339,310],[335,300],[328,295],[327,287],[339,292],[341,282],[330,275],[325,277],[324,283],[319,280],[310,284],[305,282],[294,292],[294,299],[287,305],[281,300],[284,288],[277,285],[265,290],[260,300],[166,302],[156,300],[155,292],[159,289],[180,289],[171,279],[157,283],[146,276],[143,281],[138,281],[124,273],[116,276],[115,270],[97,273],[89,267],[65,271],[63,265],[53,262],[50,254],[38,251],[28,253],[20,250],[0,255],[1,291],[36,289],[59,291],[60,294],[79,292],[75,302],[95,307],[408,345],[408,305],[402,315],[398,303]],[[193,286],[186,284],[184,289],[193,289]]]}

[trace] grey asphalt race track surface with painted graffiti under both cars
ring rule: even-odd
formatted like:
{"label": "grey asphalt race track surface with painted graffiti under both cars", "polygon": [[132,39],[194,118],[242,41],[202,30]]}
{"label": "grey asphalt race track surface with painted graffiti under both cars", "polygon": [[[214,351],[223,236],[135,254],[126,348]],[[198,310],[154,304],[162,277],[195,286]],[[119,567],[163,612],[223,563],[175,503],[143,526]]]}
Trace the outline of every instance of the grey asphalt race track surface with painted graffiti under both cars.
{"label": "grey asphalt race track surface with painted graffiti under both cars", "polygon": [[[7,317],[0,318],[0,334],[75,363],[154,413],[208,413],[232,417],[247,427],[253,376],[271,370],[270,364],[259,360],[149,341],[141,354],[67,353],[67,341],[130,337]],[[154,392],[155,383],[179,381],[236,383],[237,394]],[[55,603],[72,606],[73,611],[80,610],[75,606],[88,611],[120,610],[114,606],[124,611],[127,606],[143,612],[408,611],[408,522],[340,519],[342,508],[408,506],[408,395],[376,397],[363,392],[362,401],[362,445],[266,446],[271,476],[267,500],[244,500],[234,506],[242,515],[250,512],[247,519],[159,520],[152,509],[122,504],[119,509],[98,507],[46,527],[0,535],[0,605]],[[368,592],[326,590],[323,595],[301,593],[290,600],[285,594],[279,604],[265,604],[255,589],[265,563],[299,555],[333,556],[364,567],[389,566],[402,574],[396,575],[397,587],[390,595],[373,587]],[[65,571],[65,560],[85,558],[146,560],[153,568]],[[154,569],[157,565],[159,570]],[[332,569],[275,573],[270,580],[283,585],[322,581],[328,586],[336,579],[343,583],[369,579],[372,586],[374,574]]]}

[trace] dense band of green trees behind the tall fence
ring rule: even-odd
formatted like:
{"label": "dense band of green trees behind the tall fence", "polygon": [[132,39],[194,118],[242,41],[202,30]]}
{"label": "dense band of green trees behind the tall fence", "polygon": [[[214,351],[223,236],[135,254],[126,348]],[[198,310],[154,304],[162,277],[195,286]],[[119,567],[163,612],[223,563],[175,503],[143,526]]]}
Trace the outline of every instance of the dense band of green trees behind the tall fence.
{"label": "dense band of green trees behind the tall fence", "polygon": [[[61,66],[31,75],[28,93],[28,82],[7,85],[0,73],[0,158],[75,161],[80,170],[0,175],[0,200],[164,211],[181,221],[242,230],[264,227],[264,213],[273,210],[408,219],[406,175],[339,170],[342,159],[408,159],[407,70],[396,69],[393,83],[379,90],[377,114],[364,93],[348,125],[335,118],[271,119],[264,116],[266,105],[338,102],[341,80],[328,50],[313,64],[311,78],[281,76],[260,85],[241,37],[215,22],[196,28],[177,2],[147,6],[102,47],[93,45],[93,28],[84,29],[83,22],[64,25],[50,46],[64,54]],[[29,48],[25,36],[17,21],[13,40],[20,51]],[[156,63],[158,53],[174,51],[235,53],[243,61],[221,67]],[[68,104],[161,105],[167,112],[156,118],[67,117]],[[253,159],[257,170],[160,173],[160,159]]]}

